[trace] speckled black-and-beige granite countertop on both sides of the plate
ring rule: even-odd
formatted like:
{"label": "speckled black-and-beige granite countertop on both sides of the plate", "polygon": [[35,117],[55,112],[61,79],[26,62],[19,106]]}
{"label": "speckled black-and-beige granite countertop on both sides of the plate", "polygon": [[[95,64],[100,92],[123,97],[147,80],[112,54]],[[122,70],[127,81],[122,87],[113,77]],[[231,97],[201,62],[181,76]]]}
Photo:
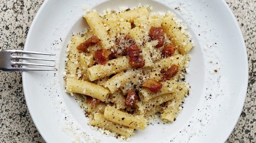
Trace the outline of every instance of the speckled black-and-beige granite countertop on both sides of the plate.
{"label": "speckled black-and-beige granite countertop on both sides of the plate", "polygon": [[[242,30],[249,61],[249,83],[244,109],[227,143],[256,142],[256,1],[225,0]],[[0,50],[24,48],[43,0],[1,0]],[[21,72],[0,71],[0,142],[44,142],[29,114]],[[239,76],[239,75],[238,75]]]}

